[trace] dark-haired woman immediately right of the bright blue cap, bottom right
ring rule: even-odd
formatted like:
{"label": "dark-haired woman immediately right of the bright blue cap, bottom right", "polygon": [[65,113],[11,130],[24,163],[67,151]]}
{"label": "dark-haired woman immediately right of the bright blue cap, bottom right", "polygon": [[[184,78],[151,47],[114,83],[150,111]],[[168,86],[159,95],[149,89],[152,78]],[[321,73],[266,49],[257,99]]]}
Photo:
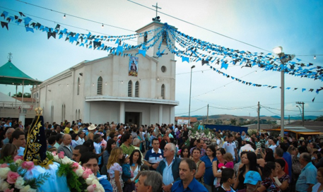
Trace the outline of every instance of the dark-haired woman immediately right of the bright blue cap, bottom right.
{"label": "dark-haired woman immediately right of the bright blue cap, bottom right", "polygon": [[267,162],[264,166],[262,174],[262,185],[257,188],[257,191],[277,191],[281,192],[279,186],[275,183],[274,177],[277,176],[276,164],[274,162]]}

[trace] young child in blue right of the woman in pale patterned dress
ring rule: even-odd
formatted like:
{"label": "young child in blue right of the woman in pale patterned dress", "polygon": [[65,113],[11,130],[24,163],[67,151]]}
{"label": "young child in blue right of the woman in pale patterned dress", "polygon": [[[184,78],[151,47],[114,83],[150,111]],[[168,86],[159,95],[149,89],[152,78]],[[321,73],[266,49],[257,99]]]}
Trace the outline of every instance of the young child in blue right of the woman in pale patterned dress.
{"label": "young child in blue right of the woman in pale patterned dress", "polygon": [[134,184],[131,182],[131,178],[134,177],[134,173],[131,171],[129,162],[129,155],[123,156],[122,160],[120,160],[120,164],[122,164],[122,181],[124,181],[123,191],[125,192],[134,190]]}

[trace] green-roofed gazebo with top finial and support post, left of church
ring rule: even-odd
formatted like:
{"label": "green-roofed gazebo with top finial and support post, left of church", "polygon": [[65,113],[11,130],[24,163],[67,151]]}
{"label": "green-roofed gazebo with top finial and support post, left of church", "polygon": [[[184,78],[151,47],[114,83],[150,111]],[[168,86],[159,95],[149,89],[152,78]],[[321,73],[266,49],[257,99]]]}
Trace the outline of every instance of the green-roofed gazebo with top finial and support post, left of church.
{"label": "green-roofed gazebo with top finial and support post, left of church", "polygon": [[[0,67],[0,84],[4,85],[16,85],[16,94],[18,85],[39,85],[42,83],[40,80],[35,80],[31,78],[30,76],[23,73],[23,71],[20,71],[19,68],[17,68],[15,65],[11,63],[12,54],[9,53],[8,56],[8,62]],[[24,92],[24,91],[23,91]],[[23,95],[22,100],[23,103]],[[25,124],[25,113],[23,112],[23,107],[21,107],[19,112],[19,120]]]}

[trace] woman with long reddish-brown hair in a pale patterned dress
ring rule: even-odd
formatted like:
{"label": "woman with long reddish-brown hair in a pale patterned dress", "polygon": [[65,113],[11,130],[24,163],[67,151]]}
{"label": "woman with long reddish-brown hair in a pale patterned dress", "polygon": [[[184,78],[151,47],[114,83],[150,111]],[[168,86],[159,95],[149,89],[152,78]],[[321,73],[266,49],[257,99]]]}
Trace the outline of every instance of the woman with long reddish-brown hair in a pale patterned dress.
{"label": "woman with long reddish-brown hair in a pale patterned dress", "polygon": [[124,181],[122,181],[122,167],[120,165],[122,157],[122,149],[114,148],[111,150],[109,160],[107,161],[107,173],[109,173],[113,192],[122,192],[122,188],[124,187]]}

